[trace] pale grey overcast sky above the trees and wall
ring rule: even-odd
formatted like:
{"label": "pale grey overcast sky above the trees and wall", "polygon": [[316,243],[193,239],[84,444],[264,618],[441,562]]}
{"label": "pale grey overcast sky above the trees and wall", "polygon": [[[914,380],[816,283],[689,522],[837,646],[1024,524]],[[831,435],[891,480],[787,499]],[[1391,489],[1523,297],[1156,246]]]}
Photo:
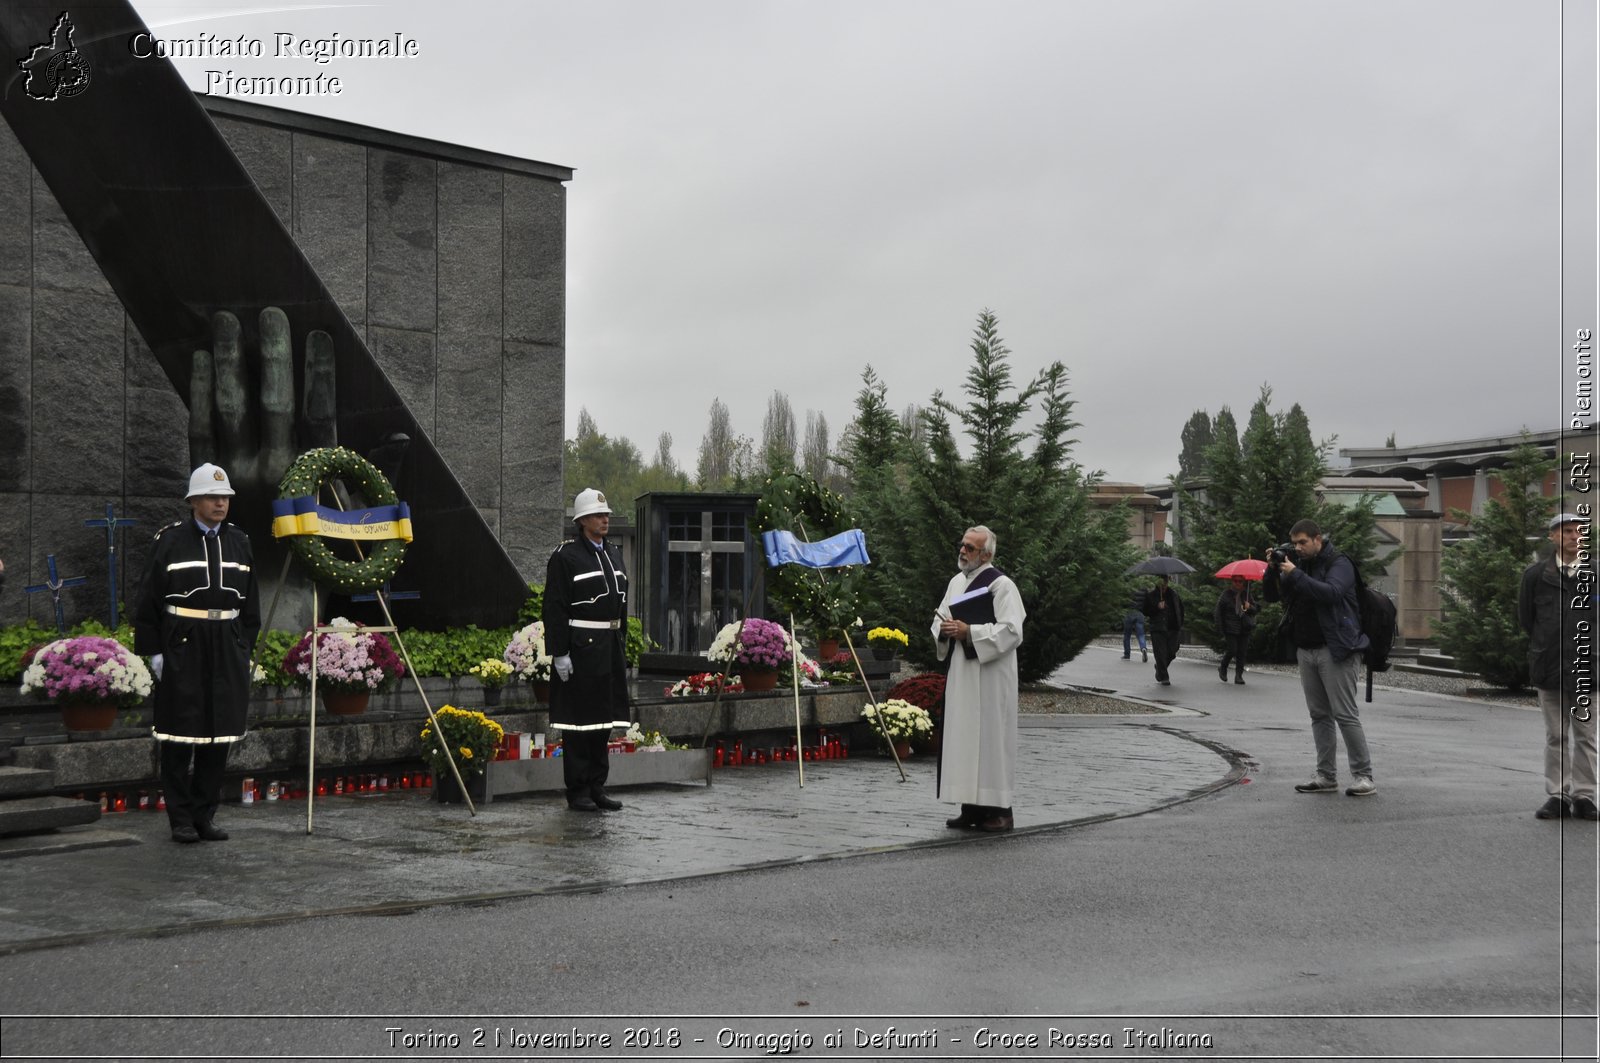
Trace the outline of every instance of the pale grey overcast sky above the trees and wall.
{"label": "pale grey overcast sky above the trees and wall", "polygon": [[1554,2],[134,2],[414,37],[258,102],[573,166],[566,432],[690,471],[712,397],[837,440],[866,363],[896,408],[958,392],[984,307],[1114,480],[1264,383],[1350,447],[1562,418]]}

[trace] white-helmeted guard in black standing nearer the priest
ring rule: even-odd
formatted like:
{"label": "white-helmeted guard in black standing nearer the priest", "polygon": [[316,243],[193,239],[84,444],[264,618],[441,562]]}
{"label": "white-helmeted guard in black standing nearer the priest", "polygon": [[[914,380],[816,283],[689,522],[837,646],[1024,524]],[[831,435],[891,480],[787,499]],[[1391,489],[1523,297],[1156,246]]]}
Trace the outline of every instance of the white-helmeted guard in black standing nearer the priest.
{"label": "white-helmeted guard in black standing nearer the priest", "polygon": [[544,578],[544,647],[550,671],[550,728],[562,733],[566,807],[616,812],[605,792],[613,727],[629,725],[627,573],[605,541],[611,507],[589,488],[573,501],[579,536],[550,554]]}

